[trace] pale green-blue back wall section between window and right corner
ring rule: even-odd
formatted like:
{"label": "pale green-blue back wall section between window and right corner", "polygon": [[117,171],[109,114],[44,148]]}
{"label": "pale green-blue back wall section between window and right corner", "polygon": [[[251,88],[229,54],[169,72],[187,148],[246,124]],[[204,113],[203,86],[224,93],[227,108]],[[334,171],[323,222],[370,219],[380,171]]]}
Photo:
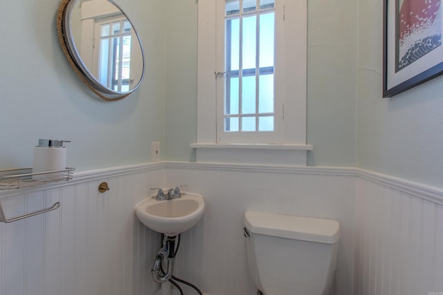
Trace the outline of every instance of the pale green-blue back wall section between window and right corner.
{"label": "pale green-blue back wall section between window and right corner", "polygon": [[355,0],[309,0],[307,142],[311,166],[355,166]]}

